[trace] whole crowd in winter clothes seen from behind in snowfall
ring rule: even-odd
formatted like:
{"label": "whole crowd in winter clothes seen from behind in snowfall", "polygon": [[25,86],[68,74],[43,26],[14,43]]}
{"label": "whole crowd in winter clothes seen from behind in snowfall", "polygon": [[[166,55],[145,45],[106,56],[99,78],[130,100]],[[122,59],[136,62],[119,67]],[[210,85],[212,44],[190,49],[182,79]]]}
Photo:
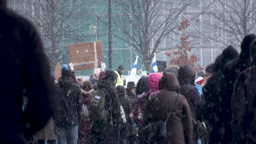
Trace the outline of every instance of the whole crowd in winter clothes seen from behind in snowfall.
{"label": "whole crowd in winter clothes seen from behind in snowfall", "polygon": [[84,80],[70,63],[54,83],[32,24],[2,0],[0,15],[9,68],[1,72],[0,143],[256,143],[255,34],[243,38],[240,53],[230,45],[202,71],[140,71],[136,85],[124,80],[123,65],[101,63]]}

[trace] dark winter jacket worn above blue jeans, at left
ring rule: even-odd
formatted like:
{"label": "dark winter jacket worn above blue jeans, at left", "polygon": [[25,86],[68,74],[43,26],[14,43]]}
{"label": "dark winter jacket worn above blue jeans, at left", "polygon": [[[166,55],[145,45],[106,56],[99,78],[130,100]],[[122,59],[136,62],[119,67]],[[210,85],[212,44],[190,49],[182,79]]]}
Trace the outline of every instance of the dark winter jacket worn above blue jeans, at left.
{"label": "dark winter jacket worn above blue jeans, at left", "polygon": [[79,125],[82,112],[80,86],[71,77],[62,76],[58,80],[58,109],[54,113],[56,127]]}

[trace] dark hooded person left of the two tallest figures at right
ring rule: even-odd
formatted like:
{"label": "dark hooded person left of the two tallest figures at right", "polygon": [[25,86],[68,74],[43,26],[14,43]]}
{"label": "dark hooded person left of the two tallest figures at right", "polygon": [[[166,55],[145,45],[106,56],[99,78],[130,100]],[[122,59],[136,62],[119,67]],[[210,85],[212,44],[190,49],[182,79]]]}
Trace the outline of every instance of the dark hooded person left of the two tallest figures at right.
{"label": "dark hooded person left of the two tallest figures at right", "polygon": [[238,56],[239,53],[232,45],[226,47],[222,54],[216,58],[214,74],[208,79],[203,88],[203,118],[208,123],[208,129],[210,130],[210,143],[222,142],[223,139],[222,121],[220,120],[222,117],[220,115],[222,112],[222,98],[219,97],[220,89],[222,89],[220,87],[221,75],[224,65]]}

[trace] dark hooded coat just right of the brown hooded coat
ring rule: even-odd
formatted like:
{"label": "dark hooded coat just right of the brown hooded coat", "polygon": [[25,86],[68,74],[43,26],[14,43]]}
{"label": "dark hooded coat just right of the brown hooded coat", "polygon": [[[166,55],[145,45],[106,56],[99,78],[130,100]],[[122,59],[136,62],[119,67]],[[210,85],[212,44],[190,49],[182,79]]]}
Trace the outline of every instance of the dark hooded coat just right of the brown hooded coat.
{"label": "dark hooded coat just right of the brown hooded coat", "polygon": [[[179,85],[181,86],[179,93],[184,95],[184,97],[188,100],[188,104],[191,110],[191,117],[195,121],[197,119],[201,120],[202,101],[199,92],[195,87],[196,72],[191,66],[183,65],[179,68],[178,76]],[[193,128],[193,143],[197,143],[197,134],[194,125]]]}

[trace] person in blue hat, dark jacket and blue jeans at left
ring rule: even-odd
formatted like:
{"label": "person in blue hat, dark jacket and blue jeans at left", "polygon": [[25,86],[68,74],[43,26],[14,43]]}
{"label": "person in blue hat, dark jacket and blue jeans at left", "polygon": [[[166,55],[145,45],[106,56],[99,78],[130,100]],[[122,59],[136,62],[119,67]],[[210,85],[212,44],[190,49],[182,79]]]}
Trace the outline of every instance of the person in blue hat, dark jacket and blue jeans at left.
{"label": "person in blue hat, dark jacket and blue jeans at left", "polygon": [[71,78],[72,70],[67,64],[62,65],[58,80],[58,109],[53,115],[56,125],[57,141],[77,143],[78,125],[82,112],[82,94],[80,86]]}

